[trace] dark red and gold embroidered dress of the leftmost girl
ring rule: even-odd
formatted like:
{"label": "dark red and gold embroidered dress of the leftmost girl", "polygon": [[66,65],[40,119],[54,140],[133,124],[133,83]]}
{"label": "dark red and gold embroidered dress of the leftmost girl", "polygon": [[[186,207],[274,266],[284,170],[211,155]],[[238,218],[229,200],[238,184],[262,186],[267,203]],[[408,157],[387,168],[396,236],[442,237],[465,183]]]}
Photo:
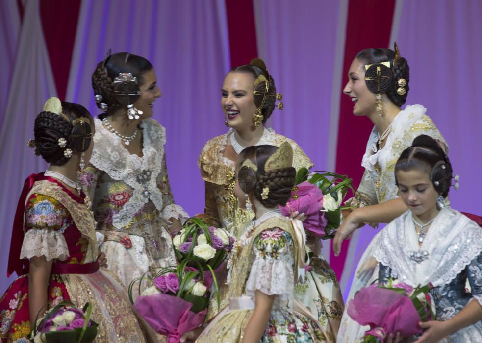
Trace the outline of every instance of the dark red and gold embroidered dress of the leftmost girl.
{"label": "dark red and gold embroidered dress of the leftmost girl", "polygon": [[[77,307],[91,302],[92,319],[99,323],[96,342],[145,342],[125,288],[113,275],[99,269],[95,221],[83,199],[43,174],[32,174],[25,182],[25,190],[25,203],[19,202],[20,225],[14,226],[9,262],[9,272],[25,274],[0,299],[0,341],[30,342],[27,260],[45,256],[47,261],[54,260],[49,308],[63,300]],[[19,251],[12,253],[15,241],[21,249],[18,246]]]}

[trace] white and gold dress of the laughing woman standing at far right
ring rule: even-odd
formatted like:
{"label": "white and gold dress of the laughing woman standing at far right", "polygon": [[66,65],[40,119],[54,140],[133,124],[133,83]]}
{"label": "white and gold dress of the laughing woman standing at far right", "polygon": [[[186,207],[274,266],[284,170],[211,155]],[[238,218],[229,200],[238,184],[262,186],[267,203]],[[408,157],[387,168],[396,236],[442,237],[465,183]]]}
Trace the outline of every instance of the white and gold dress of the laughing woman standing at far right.
{"label": "white and gold dress of the laughing woman standing at far right", "polygon": [[[378,130],[376,127],[373,128],[361,162],[365,172],[356,193],[356,200],[360,207],[383,203],[399,196],[398,187],[395,184],[395,164],[402,151],[410,147],[417,136],[431,136],[446,153],[448,152],[445,139],[430,117],[425,114],[426,111],[427,109],[422,105],[408,105],[399,112],[393,120],[392,130],[382,149],[377,146]],[[370,223],[370,225],[378,227],[376,223]],[[363,234],[363,232],[355,231],[351,248],[363,249],[363,247],[353,244],[356,236],[360,234]],[[372,243],[373,240],[358,262],[346,301],[347,304],[350,299],[353,299],[356,292],[378,278],[377,262],[371,258],[374,250]],[[356,342],[355,339],[359,337],[360,332],[363,333],[367,329],[368,326],[362,327],[348,316],[346,306],[341,319],[337,342]]]}

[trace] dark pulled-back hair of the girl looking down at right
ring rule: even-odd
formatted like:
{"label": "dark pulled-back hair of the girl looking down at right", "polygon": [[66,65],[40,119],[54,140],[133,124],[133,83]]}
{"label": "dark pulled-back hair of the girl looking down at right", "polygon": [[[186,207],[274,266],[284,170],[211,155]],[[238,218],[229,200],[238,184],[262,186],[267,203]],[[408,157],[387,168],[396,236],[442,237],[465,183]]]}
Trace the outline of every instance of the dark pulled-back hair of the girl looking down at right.
{"label": "dark pulled-back hair of the girl looking down at right", "polygon": [[430,174],[433,187],[443,197],[447,197],[452,182],[452,164],[444,150],[432,137],[420,135],[406,148],[395,165],[397,172],[419,169]]}

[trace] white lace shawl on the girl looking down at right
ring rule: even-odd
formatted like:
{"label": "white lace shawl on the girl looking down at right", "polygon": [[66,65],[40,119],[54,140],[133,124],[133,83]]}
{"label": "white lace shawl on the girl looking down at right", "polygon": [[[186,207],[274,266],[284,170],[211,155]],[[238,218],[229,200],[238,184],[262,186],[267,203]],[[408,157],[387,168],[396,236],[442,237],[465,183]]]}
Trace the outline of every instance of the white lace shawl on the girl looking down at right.
{"label": "white lace shawl on the girl looking down at right", "polygon": [[[450,283],[482,252],[482,229],[452,208],[444,208],[431,224],[419,248],[412,213],[407,211],[390,222],[376,237],[374,257],[396,272],[411,286],[434,287]],[[428,252],[428,258],[416,263],[411,251]]]}

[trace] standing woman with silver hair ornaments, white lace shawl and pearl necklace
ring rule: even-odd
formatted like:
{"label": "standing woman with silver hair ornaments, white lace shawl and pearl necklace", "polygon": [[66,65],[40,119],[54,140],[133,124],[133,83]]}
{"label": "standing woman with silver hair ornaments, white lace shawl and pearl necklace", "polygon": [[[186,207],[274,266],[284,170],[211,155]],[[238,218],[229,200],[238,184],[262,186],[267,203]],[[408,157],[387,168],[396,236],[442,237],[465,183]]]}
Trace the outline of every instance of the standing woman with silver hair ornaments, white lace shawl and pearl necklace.
{"label": "standing woman with silver hair ornaments, white lace shawl and pearl necklace", "polygon": [[188,216],[171,192],[165,129],[150,118],[161,96],[152,64],[115,53],[97,65],[92,87],[104,113],[94,121],[95,148],[82,181],[109,269],[128,287],[152,268],[176,264],[170,232]]}

